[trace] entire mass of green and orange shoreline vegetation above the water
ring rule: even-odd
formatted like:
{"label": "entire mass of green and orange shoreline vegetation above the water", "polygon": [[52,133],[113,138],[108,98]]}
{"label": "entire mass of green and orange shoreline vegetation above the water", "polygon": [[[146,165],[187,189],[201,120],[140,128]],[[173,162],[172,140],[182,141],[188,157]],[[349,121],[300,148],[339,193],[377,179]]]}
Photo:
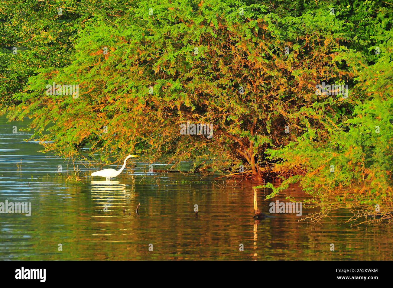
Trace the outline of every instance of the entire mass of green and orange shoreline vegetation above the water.
{"label": "entire mass of green and orange shoreline vegetation above the water", "polygon": [[52,4],[0,4],[0,114],[43,152],[192,161],[266,199],[297,183],[315,221],[393,220],[392,4]]}

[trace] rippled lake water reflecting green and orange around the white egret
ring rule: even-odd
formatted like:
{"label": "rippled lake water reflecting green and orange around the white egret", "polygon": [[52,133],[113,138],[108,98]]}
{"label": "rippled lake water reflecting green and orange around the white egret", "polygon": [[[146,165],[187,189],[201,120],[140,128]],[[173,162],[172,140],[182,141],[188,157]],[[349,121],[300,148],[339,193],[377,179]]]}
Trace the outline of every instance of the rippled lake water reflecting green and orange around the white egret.
{"label": "rippled lake water reflecting green and orange around the white egret", "polygon": [[[79,164],[82,181],[72,184],[67,181],[72,163],[38,152],[42,147],[37,142],[24,141],[31,135],[19,130],[26,121],[0,118],[0,202],[31,202],[32,210],[28,217],[0,214],[1,260],[393,259],[391,225],[350,227],[344,224],[345,211],[334,211],[319,224],[299,222],[295,214],[254,220],[252,186],[257,183],[246,180],[145,173],[149,163],[131,158],[128,169],[109,183],[84,176],[99,165],[88,170]],[[258,194],[265,213],[272,202],[264,200],[268,193]],[[286,202],[288,195],[304,196],[292,186],[274,201]],[[307,213],[303,209],[303,216]]]}

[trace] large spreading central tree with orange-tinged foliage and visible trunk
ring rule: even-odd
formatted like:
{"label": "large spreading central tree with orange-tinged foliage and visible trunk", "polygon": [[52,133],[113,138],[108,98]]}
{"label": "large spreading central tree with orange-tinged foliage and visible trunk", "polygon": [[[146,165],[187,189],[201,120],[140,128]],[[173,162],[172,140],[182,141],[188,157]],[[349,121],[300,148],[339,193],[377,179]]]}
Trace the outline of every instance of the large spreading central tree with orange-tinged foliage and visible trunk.
{"label": "large spreading central tree with orange-tinged foliage and visible trunk", "polygon": [[[241,160],[258,175],[264,150],[288,142],[286,124],[296,127],[293,139],[305,129],[297,123],[324,125],[309,115],[318,99],[310,92],[320,75],[348,77],[332,65],[342,25],[325,10],[281,18],[239,1],[146,2],[111,20],[97,15],[75,37],[72,63],[40,69],[14,95],[23,104],[10,116],[34,117],[38,132],[55,123],[43,139],[56,139],[47,148],[59,152],[89,145],[108,151],[103,160],[133,150],[178,160],[222,155],[219,162]],[[45,95],[52,82],[79,84],[79,99]],[[213,123],[214,138],[180,136],[185,121]]]}

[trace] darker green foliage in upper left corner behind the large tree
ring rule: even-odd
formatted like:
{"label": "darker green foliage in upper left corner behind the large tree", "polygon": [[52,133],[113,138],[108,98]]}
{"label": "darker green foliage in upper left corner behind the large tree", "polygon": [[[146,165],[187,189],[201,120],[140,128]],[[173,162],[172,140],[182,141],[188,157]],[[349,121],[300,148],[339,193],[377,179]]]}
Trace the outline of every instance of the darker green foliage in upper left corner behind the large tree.
{"label": "darker green foliage in upper left corner behind the large tree", "polygon": [[[73,38],[81,25],[116,11],[129,1],[9,0],[0,2],[0,110],[18,103],[29,77],[41,68],[62,68],[75,52]],[[62,9],[62,15],[59,14]],[[108,9],[108,10],[107,10]],[[87,22],[86,22],[87,21]],[[12,48],[17,48],[17,54]]]}

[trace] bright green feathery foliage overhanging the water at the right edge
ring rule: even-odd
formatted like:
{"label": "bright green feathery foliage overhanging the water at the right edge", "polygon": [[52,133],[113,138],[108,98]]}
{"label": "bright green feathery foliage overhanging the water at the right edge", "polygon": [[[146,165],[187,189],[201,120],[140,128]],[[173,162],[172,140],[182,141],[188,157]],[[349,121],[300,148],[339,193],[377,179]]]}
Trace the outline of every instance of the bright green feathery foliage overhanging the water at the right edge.
{"label": "bright green feathery foliage overhanging the water at the right edge", "polygon": [[[380,57],[373,64],[353,51],[340,56],[357,75],[350,95],[361,102],[354,107],[352,117],[338,123],[323,142],[310,137],[317,133],[314,129],[283,149],[267,152],[270,159],[280,159],[281,165],[301,164],[307,173],[300,176],[299,183],[307,193],[322,201],[321,205],[324,204],[321,195],[344,191],[342,197],[336,197],[336,202],[345,207],[363,206],[371,212],[376,204],[384,212],[392,207],[393,32],[388,31],[384,36]],[[334,165],[334,172],[330,165]],[[295,177],[297,181],[299,177]],[[347,195],[351,198],[345,199]],[[350,204],[345,201],[349,199]]]}

